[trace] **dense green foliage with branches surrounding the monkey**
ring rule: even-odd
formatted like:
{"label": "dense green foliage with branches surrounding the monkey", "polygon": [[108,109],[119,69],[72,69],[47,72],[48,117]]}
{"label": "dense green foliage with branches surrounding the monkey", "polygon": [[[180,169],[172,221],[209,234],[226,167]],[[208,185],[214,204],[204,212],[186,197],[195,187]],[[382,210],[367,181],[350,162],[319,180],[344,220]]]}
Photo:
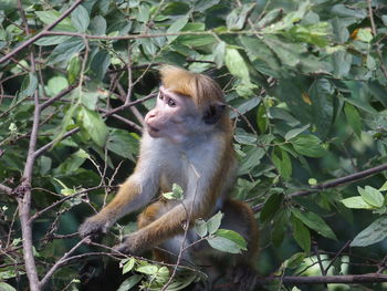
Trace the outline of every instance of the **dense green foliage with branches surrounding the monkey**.
{"label": "dense green foliage with branches surrounding the monkey", "polygon": [[[386,27],[383,0],[1,1],[0,290],[29,290],[31,268],[50,290],[105,282],[114,254],[80,248],[75,232],[132,173],[161,63],[209,74],[232,106],[232,195],[257,211],[268,289],[323,290],[299,284],[301,276],[387,281]],[[197,230],[215,248],[242,249],[234,233],[215,235],[219,219]],[[103,243],[134,221],[121,220]],[[121,291],[197,280],[190,270],[169,282],[168,268],[146,259],[122,266]],[[111,280],[117,290],[124,279]],[[373,278],[351,282],[328,288],[383,290]]]}

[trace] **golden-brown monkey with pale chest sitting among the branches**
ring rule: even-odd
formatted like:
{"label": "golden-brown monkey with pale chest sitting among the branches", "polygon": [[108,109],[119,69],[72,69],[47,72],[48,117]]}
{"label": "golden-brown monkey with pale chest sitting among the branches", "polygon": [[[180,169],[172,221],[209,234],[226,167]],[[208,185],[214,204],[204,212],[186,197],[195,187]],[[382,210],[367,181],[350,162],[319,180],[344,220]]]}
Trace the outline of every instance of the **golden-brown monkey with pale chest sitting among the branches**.
{"label": "golden-brown monkey with pale chest sitting among the branches", "polygon": [[[81,237],[105,233],[124,215],[144,208],[158,193],[168,193],[177,184],[184,190],[182,200],[160,196],[139,214],[138,230],[115,249],[130,254],[154,249],[156,260],[174,263],[181,243],[188,246],[199,239],[192,229],[195,220],[221,211],[221,228],[239,232],[248,242],[247,251],[227,260],[238,272],[233,280],[243,281],[243,270],[251,268],[258,252],[259,231],[250,207],[228,197],[238,163],[222,90],[209,76],[171,65],[160,69],[160,79],[156,106],[145,116],[146,129],[134,173],[106,207],[81,225],[79,232]],[[189,227],[186,237],[185,227]],[[182,260],[199,264],[211,264],[209,258],[219,261],[220,251],[205,243],[185,251]],[[241,290],[249,290],[249,285]]]}

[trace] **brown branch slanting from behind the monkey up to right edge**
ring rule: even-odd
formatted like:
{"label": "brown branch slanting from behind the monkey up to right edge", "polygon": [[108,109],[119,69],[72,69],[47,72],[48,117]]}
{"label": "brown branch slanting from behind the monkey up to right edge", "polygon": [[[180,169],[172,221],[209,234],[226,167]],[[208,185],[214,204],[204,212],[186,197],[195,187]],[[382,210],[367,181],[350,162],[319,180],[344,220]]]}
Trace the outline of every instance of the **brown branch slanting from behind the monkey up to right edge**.
{"label": "brown branch slanting from behind the monkey up to right edge", "polygon": [[[287,196],[287,199],[294,198],[294,197],[301,197],[301,196],[306,196],[313,193],[316,193],[317,190],[325,190],[325,189],[330,189],[330,188],[335,188],[338,186],[342,186],[344,184],[348,184],[348,183],[353,183],[353,181],[357,181],[364,178],[367,178],[372,175],[378,174],[380,172],[384,172],[387,169],[387,164],[383,164],[380,166],[374,167],[374,168],[369,168],[369,169],[365,169],[355,174],[351,174],[348,176],[344,176],[331,181],[326,181],[323,184],[318,184],[315,186],[312,186],[311,189],[308,190],[302,190],[302,191],[296,191],[293,193],[291,195]],[[264,204],[259,204],[255,205],[254,207],[252,207],[253,211],[258,212],[262,209]]]}

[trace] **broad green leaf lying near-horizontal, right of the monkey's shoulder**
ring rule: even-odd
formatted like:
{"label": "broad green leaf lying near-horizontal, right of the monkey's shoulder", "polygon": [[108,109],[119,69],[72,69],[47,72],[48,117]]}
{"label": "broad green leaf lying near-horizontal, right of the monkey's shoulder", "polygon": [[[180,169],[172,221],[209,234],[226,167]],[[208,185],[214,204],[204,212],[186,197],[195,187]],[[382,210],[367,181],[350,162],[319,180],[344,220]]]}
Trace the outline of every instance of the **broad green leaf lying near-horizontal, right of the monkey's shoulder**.
{"label": "broad green leaf lying near-horizontal, right of the monkey's shoulder", "polygon": [[307,157],[322,157],[326,155],[326,149],[321,145],[321,141],[315,135],[299,135],[290,141],[300,155]]}

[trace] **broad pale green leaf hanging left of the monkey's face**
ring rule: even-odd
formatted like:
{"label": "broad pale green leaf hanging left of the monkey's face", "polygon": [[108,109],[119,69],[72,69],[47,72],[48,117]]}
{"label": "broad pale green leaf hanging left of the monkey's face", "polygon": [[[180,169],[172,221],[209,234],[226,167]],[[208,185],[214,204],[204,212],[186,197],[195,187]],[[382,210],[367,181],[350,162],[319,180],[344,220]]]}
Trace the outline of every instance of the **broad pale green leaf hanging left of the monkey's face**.
{"label": "broad pale green leaf hanging left of the monkey's face", "polygon": [[86,107],[82,107],[82,126],[92,137],[93,142],[100,147],[103,147],[106,143],[108,129],[105,122],[102,119],[98,113],[91,111]]}

